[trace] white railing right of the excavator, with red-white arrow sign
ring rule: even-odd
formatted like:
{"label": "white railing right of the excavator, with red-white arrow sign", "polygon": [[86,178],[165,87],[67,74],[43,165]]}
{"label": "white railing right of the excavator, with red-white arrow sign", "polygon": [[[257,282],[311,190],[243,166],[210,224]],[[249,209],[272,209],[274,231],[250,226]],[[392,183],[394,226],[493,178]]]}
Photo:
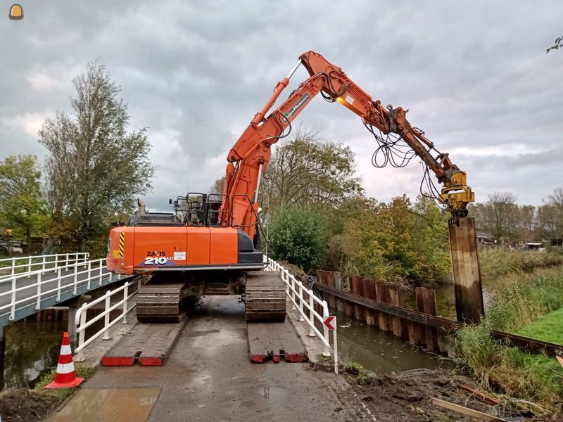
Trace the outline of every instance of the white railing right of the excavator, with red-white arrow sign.
{"label": "white railing right of the excavator, with red-white arrow sign", "polygon": [[[299,312],[299,321],[305,321],[309,326],[310,337],[315,337],[315,335],[320,338],[324,344],[324,356],[330,356],[330,340],[329,340],[329,328],[324,324],[324,319],[329,314],[329,305],[326,300],[321,300],[315,296],[315,293],[308,287],[303,286],[303,283],[296,279],[293,274],[287,271],[283,266],[278,264],[272,259],[268,259],[266,271],[278,271],[281,274],[281,279],[286,285],[286,295],[293,303],[292,309],[296,309]],[[322,315],[315,310],[315,304],[319,305],[322,309]],[[308,312],[305,312],[307,309]],[[320,326],[323,328],[323,332],[315,326],[315,320],[319,322]],[[334,350],[334,373],[338,372],[339,367],[339,356],[338,356],[338,340],[336,338],[336,329],[334,327],[333,332],[333,350]]]}

